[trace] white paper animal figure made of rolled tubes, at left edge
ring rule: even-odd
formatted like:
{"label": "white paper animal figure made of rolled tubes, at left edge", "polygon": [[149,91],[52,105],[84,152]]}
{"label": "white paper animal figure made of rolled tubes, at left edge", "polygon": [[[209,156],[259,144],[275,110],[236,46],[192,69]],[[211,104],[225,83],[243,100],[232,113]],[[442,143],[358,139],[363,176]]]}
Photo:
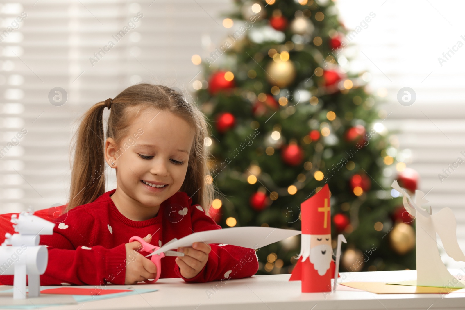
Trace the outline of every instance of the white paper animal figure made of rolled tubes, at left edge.
{"label": "white paper animal figure made of rolled tubes, at left edge", "polygon": [[26,299],[26,275],[29,297],[40,296],[40,275],[48,263],[48,251],[39,245],[40,235],[52,235],[55,223],[23,211],[11,216],[15,234],[6,233],[0,246],[0,274],[14,275],[13,299]]}

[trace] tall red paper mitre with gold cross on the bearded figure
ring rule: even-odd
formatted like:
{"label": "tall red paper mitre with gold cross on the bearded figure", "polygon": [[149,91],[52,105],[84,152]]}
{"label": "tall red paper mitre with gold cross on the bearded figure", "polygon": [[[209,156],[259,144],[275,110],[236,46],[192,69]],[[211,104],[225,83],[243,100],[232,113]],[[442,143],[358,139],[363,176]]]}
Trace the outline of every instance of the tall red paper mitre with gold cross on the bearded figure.
{"label": "tall red paper mitre with gold cross on the bearded figure", "polygon": [[318,193],[301,203],[300,212],[303,234],[331,234],[331,206],[328,185],[326,184]]}

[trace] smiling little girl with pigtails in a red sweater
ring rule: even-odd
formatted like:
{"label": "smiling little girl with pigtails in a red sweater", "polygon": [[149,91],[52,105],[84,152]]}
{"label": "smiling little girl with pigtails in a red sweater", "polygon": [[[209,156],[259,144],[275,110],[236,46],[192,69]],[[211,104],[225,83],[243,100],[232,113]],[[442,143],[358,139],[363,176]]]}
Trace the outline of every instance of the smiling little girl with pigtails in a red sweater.
{"label": "smiling little girl with pigtails in a red sweater", "polygon": [[[110,109],[107,138],[102,113]],[[161,259],[157,270],[133,236],[161,246],[197,231],[221,229],[206,211],[214,194],[207,167],[205,116],[182,93],[137,84],[92,106],[76,133],[67,212],[57,218],[41,285],[137,284],[181,277],[209,282],[250,277],[255,250],[194,243],[183,257]],[[135,143],[134,143],[135,141]],[[117,187],[105,192],[105,164]],[[209,178],[210,177],[210,178]],[[203,206],[203,207],[202,207]],[[58,224],[59,223],[59,224]],[[13,284],[13,276],[0,276]]]}

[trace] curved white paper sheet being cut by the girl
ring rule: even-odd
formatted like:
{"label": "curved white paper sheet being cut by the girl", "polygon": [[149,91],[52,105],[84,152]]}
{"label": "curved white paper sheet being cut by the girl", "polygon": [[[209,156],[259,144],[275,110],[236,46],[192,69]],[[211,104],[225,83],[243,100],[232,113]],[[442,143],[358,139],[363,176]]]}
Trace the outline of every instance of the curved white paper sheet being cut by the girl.
{"label": "curved white paper sheet being cut by the girl", "polygon": [[180,246],[192,246],[194,242],[205,242],[206,244],[231,244],[250,249],[258,249],[262,246],[272,244],[286,238],[299,235],[301,231],[292,229],[281,229],[273,227],[231,227],[215,229],[213,231],[199,231],[165,244],[157,251],[147,255],[152,256],[168,250],[177,249]]}

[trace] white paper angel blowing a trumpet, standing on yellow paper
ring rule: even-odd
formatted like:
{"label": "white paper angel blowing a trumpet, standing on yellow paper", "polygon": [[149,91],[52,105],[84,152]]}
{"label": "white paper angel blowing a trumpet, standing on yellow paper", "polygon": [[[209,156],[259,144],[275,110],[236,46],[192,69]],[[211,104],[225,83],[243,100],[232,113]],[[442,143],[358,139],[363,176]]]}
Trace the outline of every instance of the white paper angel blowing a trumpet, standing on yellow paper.
{"label": "white paper angel blowing a trumpet, standing on yellow paper", "polygon": [[[405,210],[415,217],[417,244],[417,285],[437,287],[465,287],[447,270],[439,256],[436,233],[441,237],[446,253],[456,262],[465,262],[465,255],[457,242],[457,222],[450,208],[443,208],[432,214],[421,207],[428,202],[422,191],[415,191],[415,201],[399,186],[397,181],[391,185],[404,197],[402,202]],[[408,201],[407,201],[408,200]],[[413,209],[415,211],[413,211]]]}

